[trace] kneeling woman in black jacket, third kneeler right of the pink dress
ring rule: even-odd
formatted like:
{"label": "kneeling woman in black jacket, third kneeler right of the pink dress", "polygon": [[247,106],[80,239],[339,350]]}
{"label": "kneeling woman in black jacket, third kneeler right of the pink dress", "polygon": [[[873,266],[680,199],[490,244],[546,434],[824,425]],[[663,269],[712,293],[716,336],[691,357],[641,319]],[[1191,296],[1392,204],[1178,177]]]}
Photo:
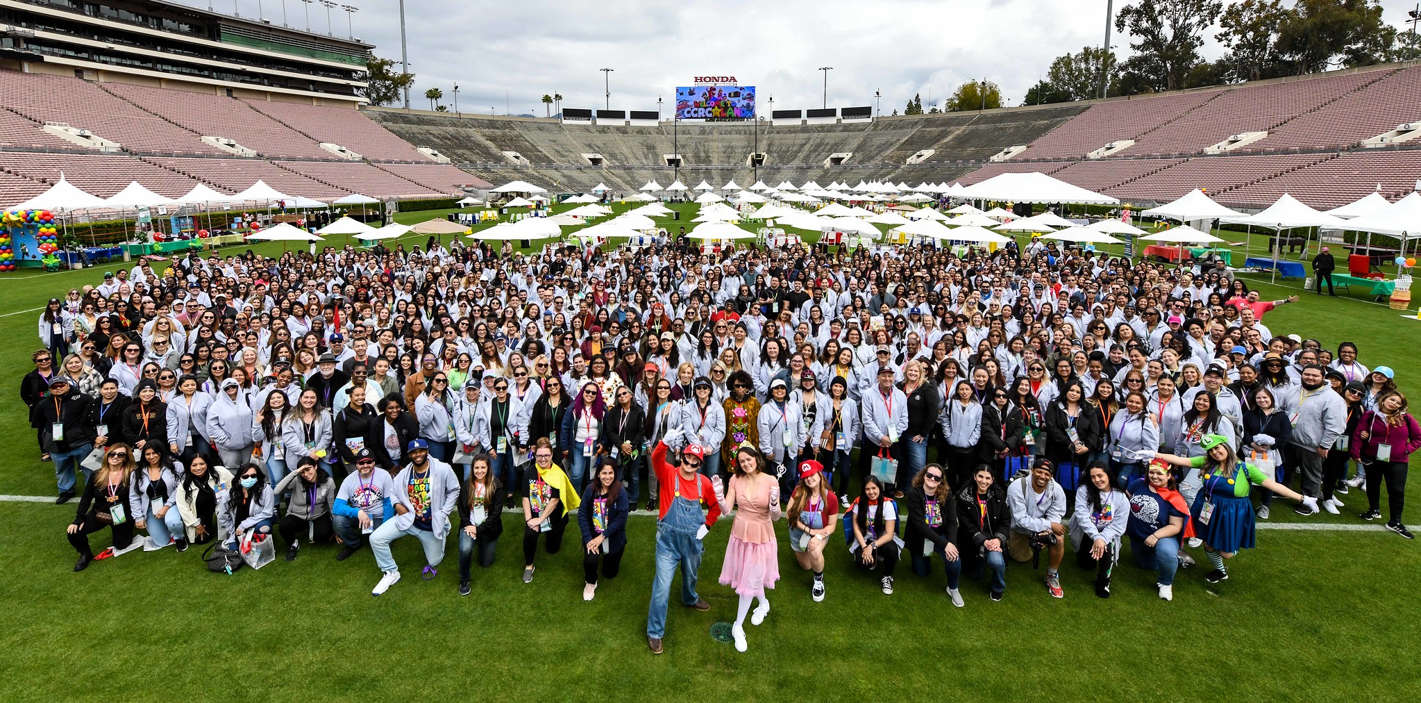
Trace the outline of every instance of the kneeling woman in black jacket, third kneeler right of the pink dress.
{"label": "kneeling woman in black jacket, third kneeler right of the pink dress", "polygon": [[962,608],[962,592],[958,591],[958,578],[962,576],[958,507],[942,465],[928,464],[918,471],[904,500],[908,502],[908,555],[912,556],[912,572],[926,576],[932,554],[942,555],[942,569],[948,574],[948,598],[952,605]]}

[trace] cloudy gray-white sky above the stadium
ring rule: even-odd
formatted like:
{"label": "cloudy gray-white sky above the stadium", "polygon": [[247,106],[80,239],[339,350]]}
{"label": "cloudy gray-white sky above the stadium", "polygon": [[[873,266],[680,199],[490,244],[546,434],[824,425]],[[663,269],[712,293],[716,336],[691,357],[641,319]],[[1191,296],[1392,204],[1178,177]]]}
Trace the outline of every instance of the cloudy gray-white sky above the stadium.
{"label": "cloudy gray-white sky above the stadium", "polygon": [[[207,4],[205,0],[182,0]],[[217,0],[232,11],[233,0]],[[259,0],[234,0],[256,16]],[[260,0],[280,21],[283,0]],[[291,26],[304,27],[306,7],[284,0]],[[360,7],[354,33],[381,57],[399,58],[398,0],[347,0]],[[1117,0],[1115,7],[1128,0]],[[1400,26],[1412,0],[1383,0],[1387,21]],[[882,92],[884,114],[921,94],[941,104],[972,78],[1002,85],[1006,104],[1020,104],[1052,58],[1100,46],[1106,0],[651,0],[452,1],[406,0],[409,63],[416,74],[411,107],[428,108],[423,91],[445,101],[459,85],[460,111],[543,115],[541,95],[561,92],[564,107],[604,104],[603,73],[612,68],[614,110],[654,110],[695,75],[735,75],[759,88],[760,110],[820,107],[824,74],[831,107],[871,105]],[[333,13],[334,31],[347,17]],[[315,4],[311,28],[325,31]],[[1111,33],[1128,53],[1128,37]],[[1206,57],[1221,50],[1211,41]],[[669,110],[669,108],[668,108]]]}

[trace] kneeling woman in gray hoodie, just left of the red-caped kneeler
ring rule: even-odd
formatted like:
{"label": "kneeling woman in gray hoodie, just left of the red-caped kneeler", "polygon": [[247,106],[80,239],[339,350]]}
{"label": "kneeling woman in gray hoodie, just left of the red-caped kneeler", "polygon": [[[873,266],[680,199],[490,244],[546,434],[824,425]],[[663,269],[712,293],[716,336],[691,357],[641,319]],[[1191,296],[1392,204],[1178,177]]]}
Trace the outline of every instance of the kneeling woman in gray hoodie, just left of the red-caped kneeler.
{"label": "kneeling woman in gray hoodie, just left of the red-caped kneeler", "polygon": [[1096,569],[1096,595],[1110,598],[1110,572],[1120,561],[1120,536],[1125,534],[1130,497],[1110,482],[1104,461],[1091,462],[1076,490],[1076,512],[1070,521],[1070,541],[1076,562]]}

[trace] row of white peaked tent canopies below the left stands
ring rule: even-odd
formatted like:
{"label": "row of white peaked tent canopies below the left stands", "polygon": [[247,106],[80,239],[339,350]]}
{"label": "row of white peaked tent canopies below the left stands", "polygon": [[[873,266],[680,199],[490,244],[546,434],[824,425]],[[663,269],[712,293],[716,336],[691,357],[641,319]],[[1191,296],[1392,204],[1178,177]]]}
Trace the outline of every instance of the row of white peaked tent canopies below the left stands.
{"label": "row of white peaked tent canopies below the left stands", "polygon": [[[222,205],[222,204],[242,204],[242,202],[277,202],[283,201],[288,208],[307,209],[307,208],[325,208],[327,204],[320,201],[313,201],[310,198],[286,195],[276,188],[271,188],[264,181],[257,181],[252,184],[246,191],[233,195],[220,194],[205,184],[198,184],[188,191],[186,195],[180,198],[168,198],[159,195],[138,181],[129,182],[122,191],[108,196],[99,198],[90,194],[80,186],[71,184],[60,174],[58,182],[51,185],[47,191],[28,201],[14,205],[10,209],[47,209],[47,211],[101,211],[101,209],[118,209],[129,211],[138,208],[156,208],[162,205]],[[369,198],[360,194],[351,194],[337,201],[334,205],[374,205],[378,204],[375,198]]]}

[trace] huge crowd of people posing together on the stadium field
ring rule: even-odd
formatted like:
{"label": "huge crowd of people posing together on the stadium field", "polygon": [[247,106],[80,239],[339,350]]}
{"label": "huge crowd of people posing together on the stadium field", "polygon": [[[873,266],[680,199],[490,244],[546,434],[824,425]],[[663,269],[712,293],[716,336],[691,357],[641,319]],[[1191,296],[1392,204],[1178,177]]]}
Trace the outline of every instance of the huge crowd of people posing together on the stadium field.
{"label": "huge crowd of people posing together on the stadium field", "polygon": [[1228,579],[1279,495],[1371,521],[1384,487],[1411,538],[1421,427],[1395,373],[1265,324],[1296,302],[1222,263],[1042,242],[188,253],[50,300],[21,396],[57,502],[78,498],[75,571],[139,546],[280,538],[287,561],[344,561],[368,542],[381,595],[391,542],[415,536],[431,579],[453,532],[468,595],[509,511],[524,583],[576,521],[591,601],[645,509],[659,653],[676,569],[709,609],[702,539],[733,512],[719,582],[743,652],[780,539],[813,601],[826,551],[885,595],[907,552],[961,608],[963,574],[1000,601],[1007,565],[1043,556],[1061,598],[1067,552],[1108,598],[1127,542],[1169,601],[1188,549]]}

